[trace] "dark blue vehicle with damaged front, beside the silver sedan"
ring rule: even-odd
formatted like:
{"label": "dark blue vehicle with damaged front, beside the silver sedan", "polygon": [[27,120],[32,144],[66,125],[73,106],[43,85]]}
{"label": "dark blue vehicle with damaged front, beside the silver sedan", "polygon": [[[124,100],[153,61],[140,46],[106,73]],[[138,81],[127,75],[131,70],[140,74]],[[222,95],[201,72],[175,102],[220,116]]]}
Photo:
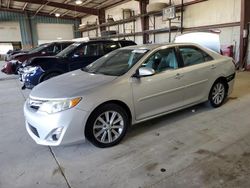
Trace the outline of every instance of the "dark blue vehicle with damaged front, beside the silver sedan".
{"label": "dark blue vehicle with damaged front, beside the silver sedan", "polygon": [[31,89],[52,77],[85,67],[115,49],[130,45],[136,43],[128,40],[76,42],[54,57],[30,59],[23,64],[20,71],[20,80],[24,82],[23,89]]}

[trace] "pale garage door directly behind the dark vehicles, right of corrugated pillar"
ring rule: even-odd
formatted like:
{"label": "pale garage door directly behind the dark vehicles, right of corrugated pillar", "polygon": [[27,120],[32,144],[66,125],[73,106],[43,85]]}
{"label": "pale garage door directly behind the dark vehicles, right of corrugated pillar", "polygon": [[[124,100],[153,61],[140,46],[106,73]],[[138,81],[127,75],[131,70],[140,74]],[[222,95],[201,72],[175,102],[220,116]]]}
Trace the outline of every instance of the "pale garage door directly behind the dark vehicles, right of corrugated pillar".
{"label": "pale garage door directly behind the dark vehicles, right of corrugated pillar", "polygon": [[73,24],[37,24],[39,43],[74,38]]}

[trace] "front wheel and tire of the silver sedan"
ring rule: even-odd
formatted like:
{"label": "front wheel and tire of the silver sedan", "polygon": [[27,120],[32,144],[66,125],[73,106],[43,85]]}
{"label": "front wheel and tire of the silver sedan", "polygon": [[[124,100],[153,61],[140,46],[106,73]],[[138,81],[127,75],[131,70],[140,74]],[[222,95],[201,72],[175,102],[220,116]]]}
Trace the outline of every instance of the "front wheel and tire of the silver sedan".
{"label": "front wheel and tire of the silver sedan", "polygon": [[85,127],[85,136],[97,147],[111,147],[123,139],[128,126],[128,114],[121,106],[104,104],[90,115]]}

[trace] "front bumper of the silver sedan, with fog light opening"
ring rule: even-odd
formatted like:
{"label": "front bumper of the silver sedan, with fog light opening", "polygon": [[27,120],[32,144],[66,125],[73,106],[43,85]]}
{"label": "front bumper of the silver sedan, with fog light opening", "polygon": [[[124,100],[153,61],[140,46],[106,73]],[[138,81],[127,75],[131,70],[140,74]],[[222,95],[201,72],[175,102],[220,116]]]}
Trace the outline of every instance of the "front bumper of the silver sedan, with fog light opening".
{"label": "front bumper of the silver sedan, with fog light opening", "polygon": [[[85,141],[84,128],[89,113],[72,108],[62,112],[47,114],[24,104],[26,130],[40,145],[58,146]],[[61,129],[57,140],[55,134]]]}

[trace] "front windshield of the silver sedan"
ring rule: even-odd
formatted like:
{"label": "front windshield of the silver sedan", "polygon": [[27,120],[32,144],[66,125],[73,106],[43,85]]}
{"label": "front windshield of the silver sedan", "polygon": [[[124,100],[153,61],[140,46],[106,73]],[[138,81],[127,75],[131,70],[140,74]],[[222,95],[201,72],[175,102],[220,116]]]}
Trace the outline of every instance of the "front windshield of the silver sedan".
{"label": "front windshield of the silver sedan", "polygon": [[146,49],[116,50],[98,59],[82,70],[94,74],[121,76],[128,72],[147,51]]}

